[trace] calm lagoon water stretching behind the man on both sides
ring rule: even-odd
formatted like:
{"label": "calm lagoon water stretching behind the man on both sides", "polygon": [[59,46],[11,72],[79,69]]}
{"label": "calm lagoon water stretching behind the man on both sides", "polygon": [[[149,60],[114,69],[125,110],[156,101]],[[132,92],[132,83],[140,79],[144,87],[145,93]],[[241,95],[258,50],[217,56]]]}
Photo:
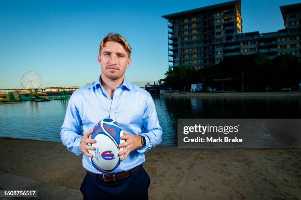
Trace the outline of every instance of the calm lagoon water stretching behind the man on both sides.
{"label": "calm lagoon water stretching behind the man on both sides", "polygon": [[[177,120],[180,118],[301,118],[300,97],[184,95],[154,96],[153,100],[163,128],[161,146],[177,145]],[[67,105],[67,100],[0,105],[0,137],[60,142],[60,126]]]}

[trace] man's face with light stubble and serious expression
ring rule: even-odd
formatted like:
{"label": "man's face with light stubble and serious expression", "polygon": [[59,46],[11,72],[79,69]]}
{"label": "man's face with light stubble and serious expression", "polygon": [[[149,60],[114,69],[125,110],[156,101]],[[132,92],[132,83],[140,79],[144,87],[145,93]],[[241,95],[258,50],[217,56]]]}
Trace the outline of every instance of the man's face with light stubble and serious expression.
{"label": "man's face with light stubble and serious expression", "polygon": [[111,80],[117,80],[124,78],[125,69],[129,67],[131,58],[119,43],[106,42],[105,47],[98,55],[98,62],[101,65],[101,75]]}

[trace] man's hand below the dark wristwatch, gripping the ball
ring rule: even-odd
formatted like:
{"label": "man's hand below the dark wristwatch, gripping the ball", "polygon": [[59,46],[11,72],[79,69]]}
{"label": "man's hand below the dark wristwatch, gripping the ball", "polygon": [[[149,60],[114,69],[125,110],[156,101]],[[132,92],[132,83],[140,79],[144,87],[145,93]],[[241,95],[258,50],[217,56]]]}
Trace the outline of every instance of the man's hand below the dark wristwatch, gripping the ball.
{"label": "man's hand below the dark wristwatch, gripping the ball", "polygon": [[121,143],[118,147],[124,147],[124,150],[120,151],[118,155],[122,155],[121,161],[126,158],[126,156],[133,150],[142,147],[141,136],[140,135],[132,135],[128,132],[123,131],[123,136],[121,136],[122,140],[125,142]]}

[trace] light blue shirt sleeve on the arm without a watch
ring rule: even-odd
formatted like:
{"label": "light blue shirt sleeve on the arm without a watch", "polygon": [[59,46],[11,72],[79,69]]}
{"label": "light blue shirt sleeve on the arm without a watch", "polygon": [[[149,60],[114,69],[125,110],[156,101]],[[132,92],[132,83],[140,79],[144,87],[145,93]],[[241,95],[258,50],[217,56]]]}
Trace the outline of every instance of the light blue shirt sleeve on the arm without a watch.
{"label": "light blue shirt sleeve on the arm without a watch", "polygon": [[72,94],[69,99],[64,123],[60,128],[60,140],[70,152],[81,155],[80,141],[82,136],[82,120],[80,118],[79,109],[76,105],[76,94]]}

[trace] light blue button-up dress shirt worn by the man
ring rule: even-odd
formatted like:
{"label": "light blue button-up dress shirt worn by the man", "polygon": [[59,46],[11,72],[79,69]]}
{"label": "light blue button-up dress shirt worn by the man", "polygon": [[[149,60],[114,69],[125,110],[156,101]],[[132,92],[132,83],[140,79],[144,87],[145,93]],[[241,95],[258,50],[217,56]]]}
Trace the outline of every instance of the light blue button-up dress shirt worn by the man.
{"label": "light blue button-up dress shirt worn by the man", "polygon": [[[140,165],[145,161],[144,153],[162,141],[162,128],[149,92],[124,78],[123,84],[116,88],[112,100],[98,78],[90,85],[74,91],[70,97],[64,123],[60,128],[62,144],[76,155],[83,154],[79,148],[83,133],[106,118],[116,120],[124,131],[145,136],[146,139],[146,146],[130,152],[113,173],[128,171]],[[90,158],[85,154],[83,167],[95,174],[101,174],[91,165]]]}

